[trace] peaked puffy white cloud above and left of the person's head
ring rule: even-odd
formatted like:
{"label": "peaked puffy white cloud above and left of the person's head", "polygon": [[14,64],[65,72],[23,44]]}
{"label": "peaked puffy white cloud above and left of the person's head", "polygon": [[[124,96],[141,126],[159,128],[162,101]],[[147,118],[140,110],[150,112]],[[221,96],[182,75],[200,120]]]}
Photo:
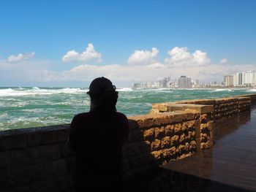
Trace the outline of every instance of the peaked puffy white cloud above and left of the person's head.
{"label": "peaked puffy white cloud above and left of the person's head", "polygon": [[102,61],[102,54],[98,53],[94,49],[94,45],[92,43],[88,44],[86,50],[83,53],[78,53],[75,50],[69,50],[66,55],[62,57],[62,61],[70,62],[70,61]]}

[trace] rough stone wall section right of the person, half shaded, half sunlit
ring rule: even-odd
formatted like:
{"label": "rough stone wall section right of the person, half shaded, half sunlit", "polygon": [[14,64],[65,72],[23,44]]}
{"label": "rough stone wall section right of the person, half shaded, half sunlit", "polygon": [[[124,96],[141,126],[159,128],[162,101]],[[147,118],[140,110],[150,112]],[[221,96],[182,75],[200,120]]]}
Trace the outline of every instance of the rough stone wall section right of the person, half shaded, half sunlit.
{"label": "rough stone wall section right of the person, half shaded, half sunlit", "polygon": [[195,153],[199,118],[197,112],[182,111],[129,118],[123,153],[127,176]]}

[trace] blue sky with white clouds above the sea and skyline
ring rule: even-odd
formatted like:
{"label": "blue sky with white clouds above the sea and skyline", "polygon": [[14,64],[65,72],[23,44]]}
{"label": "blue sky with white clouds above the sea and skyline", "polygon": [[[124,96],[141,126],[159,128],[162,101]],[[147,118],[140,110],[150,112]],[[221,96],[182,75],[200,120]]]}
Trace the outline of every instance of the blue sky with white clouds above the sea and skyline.
{"label": "blue sky with white clouds above the sea and skyline", "polygon": [[0,4],[0,87],[222,82],[256,71],[256,1],[94,0]]}

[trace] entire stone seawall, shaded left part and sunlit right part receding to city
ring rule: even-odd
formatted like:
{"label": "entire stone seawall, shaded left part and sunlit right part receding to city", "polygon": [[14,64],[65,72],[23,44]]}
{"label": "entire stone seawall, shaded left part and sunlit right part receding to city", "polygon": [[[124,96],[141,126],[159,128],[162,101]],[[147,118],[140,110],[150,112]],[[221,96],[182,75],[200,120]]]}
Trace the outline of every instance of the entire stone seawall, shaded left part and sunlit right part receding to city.
{"label": "entire stone seawall, shaded left part and sunlit right part receding to city", "polygon": [[[130,117],[123,150],[126,177],[207,150],[214,121],[248,111],[255,101],[256,94],[250,94],[153,104],[151,114]],[[72,191],[75,156],[66,144],[68,127],[1,131],[1,191]]]}

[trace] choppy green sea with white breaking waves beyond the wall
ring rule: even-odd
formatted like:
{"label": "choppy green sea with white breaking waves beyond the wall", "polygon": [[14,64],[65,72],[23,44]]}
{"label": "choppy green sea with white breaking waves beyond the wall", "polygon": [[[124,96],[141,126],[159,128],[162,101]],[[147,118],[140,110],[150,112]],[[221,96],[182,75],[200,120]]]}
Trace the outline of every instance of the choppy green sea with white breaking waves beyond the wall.
{"label": "choppy green sea with white breaking waves beyond the wall", "polygon": [[[70,123],[89,110],[88,88],[0,88],[0,131]],[[147,114],[152,103],[212,99],[256,93],[255,89],[118,88],[117,110],[127,116]]]}

